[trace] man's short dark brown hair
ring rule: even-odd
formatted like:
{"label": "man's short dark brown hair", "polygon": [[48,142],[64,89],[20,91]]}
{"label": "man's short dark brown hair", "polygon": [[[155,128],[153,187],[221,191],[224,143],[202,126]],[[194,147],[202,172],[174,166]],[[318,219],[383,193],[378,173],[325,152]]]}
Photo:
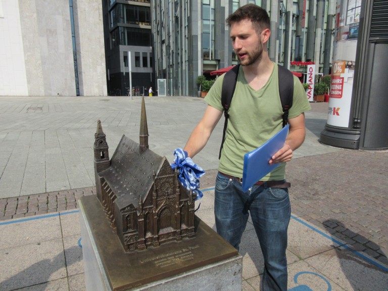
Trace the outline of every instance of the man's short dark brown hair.
{"label": "man's short dark brown hair", "polygon": [[245,19],[252,21],[252,25],[258,34],[264,29],[269,29],[271,25],[267,11],[255,4],[248,4],[238,8],[226,18],[226,24],[230,27],[233,23]]}

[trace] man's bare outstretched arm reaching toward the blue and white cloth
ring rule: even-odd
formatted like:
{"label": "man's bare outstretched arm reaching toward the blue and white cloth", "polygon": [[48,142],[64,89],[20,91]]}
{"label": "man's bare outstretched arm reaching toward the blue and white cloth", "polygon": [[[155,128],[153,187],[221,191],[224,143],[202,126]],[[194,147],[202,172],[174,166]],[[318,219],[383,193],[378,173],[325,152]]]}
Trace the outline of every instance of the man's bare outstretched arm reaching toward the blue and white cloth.
{"label": "man's bare outstretched arm reaching toward the blue and white cloth", "polygon": [[191,132],[190,137],[187,140],[184,151],[192,158],[197,155],[205,146],[209,140],[210,135],[216,127],[218,121],[222,116],[222,111],[215,109],[208,105],[205,110],[204,116],[197,124],[196,128]]}

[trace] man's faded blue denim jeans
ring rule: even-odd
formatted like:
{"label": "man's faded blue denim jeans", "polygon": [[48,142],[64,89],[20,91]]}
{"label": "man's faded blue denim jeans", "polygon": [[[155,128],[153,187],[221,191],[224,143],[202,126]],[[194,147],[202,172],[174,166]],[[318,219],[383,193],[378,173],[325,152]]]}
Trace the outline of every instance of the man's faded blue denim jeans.
{"label": "man's faded blue denim jeans", "polygon": [[264,256],[263,290],[287,290],[287,228],[291,207],[287,188],[252,186],[247,192],[237,179],[218,173],[214,214],[217,233],[238,250],[252,216]]}

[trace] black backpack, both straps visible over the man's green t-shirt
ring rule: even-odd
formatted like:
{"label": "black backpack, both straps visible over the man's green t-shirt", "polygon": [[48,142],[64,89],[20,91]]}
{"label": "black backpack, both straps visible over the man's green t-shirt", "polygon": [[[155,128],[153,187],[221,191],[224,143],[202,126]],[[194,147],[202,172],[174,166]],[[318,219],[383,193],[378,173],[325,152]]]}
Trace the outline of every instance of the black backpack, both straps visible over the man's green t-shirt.
{"label": "black backpack, both straps visible over the man's green t-shirt", "polygon": [[[225,123],[224,131],[222,135],[222,142],[220,147],[220,154],[218,159],[221,158],[221,151],[224,146],[226,127],[228,125],[228,110],[230,103],[232,102],[234,89],[236,88],[237,75],[240,65],[234,66],[230,71],[225,73],[224,79],[222,81],[222,91],[221,91],[221,103],[224,109]],[[288,110],[293,106],[293,97],[294,97],[294,77],[286,68],[278,65],[278,78],[279,78],[279,94],[281,108],[283,109],[283,127],[288,123]]]}

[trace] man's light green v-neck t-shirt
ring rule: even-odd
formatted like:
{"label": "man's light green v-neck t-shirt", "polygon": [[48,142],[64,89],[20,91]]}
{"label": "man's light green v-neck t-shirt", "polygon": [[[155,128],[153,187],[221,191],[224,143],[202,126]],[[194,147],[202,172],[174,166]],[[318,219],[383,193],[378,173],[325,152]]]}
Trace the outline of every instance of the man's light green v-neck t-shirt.
{"label": "man's light green v-neck t-shirt", "polygon": [[[282,115],[278,67],[273,71],[267,83],[259,90],[254,90],[244,76],[240,66],[236,88],[229,108],[228,126],[222,149],[218,170],[235,176],[243,177],[244,155],[260,147],[282,128]],[[212,107],[223,111],[221,104],[221,89],[224,75],[213,84],[205,101]],[[288,119],[299,116],[311,109],[302,83],[294,76],[293,106],[288,111]],[[285,178],[285,163],[262,180],[283,180]]]}

